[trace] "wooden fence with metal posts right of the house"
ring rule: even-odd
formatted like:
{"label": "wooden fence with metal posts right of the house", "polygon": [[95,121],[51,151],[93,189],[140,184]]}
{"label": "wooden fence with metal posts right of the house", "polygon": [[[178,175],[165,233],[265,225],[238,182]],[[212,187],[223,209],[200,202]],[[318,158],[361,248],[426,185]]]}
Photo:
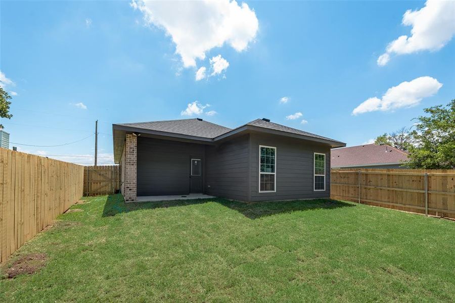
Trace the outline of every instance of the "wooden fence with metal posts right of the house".
{"label": "wooden fence with metal posts right of the house", "polygon": [[333,169],[330,195],[333,199],[455,218],[455,170]]}

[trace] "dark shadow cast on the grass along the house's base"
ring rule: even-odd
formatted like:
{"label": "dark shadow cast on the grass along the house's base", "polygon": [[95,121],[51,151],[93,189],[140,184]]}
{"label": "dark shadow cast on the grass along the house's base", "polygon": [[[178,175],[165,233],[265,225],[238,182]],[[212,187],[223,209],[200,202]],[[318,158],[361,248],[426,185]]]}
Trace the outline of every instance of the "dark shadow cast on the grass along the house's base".
{"label": "dark shadow cast on the grass along the house's base", "polygon": [[171,201],[153,201],[140,203],[125,203],[121,194],[109,195],[104,205],[103,217],[112,217],[121,213],[128,213],[136,210],[159,209],[176,206],[187,206],[204,204],[209,201],[219,203],[232,210],[238,211],[245,217],[257,219],[265,216],[271,216],[283,213],[292,213],[295,211],[307,211],[316,209],[337,209],[340,207],[353,207],[348,204],[332,199],[314,199],[314,200],[292,200],[292,201],[264,201],[255,203],[245,203],[232,201],[223,198],[210,199],[192,199],[192,200],[171,200]]}

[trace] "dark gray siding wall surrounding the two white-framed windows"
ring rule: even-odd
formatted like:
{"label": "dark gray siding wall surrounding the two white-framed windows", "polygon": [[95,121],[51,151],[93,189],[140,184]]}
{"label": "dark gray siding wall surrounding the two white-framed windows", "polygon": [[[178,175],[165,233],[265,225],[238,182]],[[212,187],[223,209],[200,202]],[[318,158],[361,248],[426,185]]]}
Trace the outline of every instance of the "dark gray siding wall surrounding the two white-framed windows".
{"label": "dark gray siding wall surrounding the two white-framed windows", "polygon": [[[277,147],[276,192],[259,192],[259,145]],[[330,147],[275,135],[250,135],[250,200],[330,197]],[[326,154],[326,190],[313,190],[313,153]]]}

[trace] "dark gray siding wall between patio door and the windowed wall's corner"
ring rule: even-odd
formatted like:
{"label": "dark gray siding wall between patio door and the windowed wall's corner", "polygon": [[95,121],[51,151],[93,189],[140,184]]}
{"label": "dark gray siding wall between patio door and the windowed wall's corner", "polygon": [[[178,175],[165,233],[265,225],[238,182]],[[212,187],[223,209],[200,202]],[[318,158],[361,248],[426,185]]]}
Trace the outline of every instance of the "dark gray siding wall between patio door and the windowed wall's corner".
{"label": "dark gray siding wall between patio door and the windowed wall's corner", "polygon": [[205,193],[248,200],[248,135],[206,146]]}

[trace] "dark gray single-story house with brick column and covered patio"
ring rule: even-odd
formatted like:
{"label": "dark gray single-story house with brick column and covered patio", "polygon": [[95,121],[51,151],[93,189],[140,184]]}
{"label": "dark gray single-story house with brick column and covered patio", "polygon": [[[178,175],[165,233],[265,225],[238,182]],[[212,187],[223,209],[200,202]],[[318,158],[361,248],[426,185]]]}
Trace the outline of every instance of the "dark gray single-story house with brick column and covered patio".
{"label": "dark gray single-story house with brick column and covered patio", "polygon": [[257,119],[230,129],[197,119],[113,124],[121,192],[204,193],[241,201],[330,196],[330,149],[345,143]]}

